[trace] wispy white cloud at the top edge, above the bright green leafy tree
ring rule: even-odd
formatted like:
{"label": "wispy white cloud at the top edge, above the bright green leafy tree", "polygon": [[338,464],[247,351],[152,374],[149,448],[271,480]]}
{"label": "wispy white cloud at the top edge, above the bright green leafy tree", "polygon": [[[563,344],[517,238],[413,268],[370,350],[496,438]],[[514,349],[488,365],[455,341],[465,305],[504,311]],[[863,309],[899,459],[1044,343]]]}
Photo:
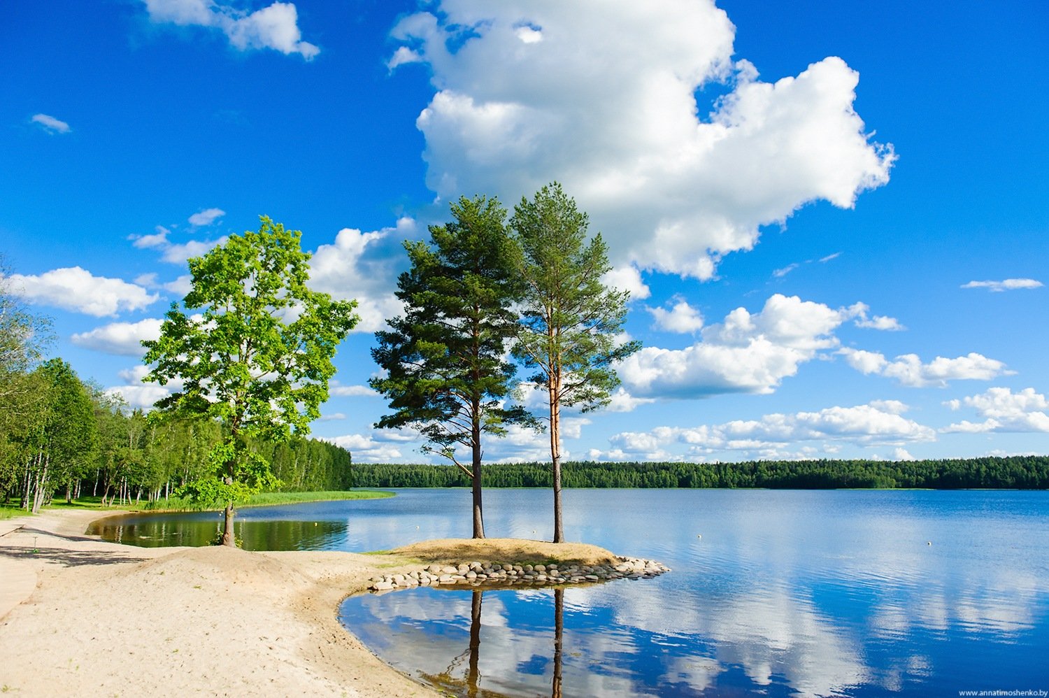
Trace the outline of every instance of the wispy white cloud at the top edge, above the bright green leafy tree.
{"label": "wispy white cloud at the top edge, above the bright green leafy tree", "polygon": [[302,41],[298,10],[291,2],[247,12],[214,0],[143,1],[150,21],[215,28],[238,50],[273,48],[284,55],[299,54],[307,61],[320,52],[316,45]]}

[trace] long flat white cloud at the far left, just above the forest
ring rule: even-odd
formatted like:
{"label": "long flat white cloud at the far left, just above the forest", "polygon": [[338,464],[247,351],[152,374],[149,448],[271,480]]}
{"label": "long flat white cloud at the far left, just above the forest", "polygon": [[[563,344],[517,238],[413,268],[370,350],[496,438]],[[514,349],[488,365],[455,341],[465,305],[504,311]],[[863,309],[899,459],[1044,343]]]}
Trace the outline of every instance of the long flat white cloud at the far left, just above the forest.
{"label": "long flat white cloud at the far left, just above the forest", "polygon": [[159,296],[123,279],[94,276],[80,267],[38,275],[10,274],[10,291],[31,303],[103,317],[149,306]]}

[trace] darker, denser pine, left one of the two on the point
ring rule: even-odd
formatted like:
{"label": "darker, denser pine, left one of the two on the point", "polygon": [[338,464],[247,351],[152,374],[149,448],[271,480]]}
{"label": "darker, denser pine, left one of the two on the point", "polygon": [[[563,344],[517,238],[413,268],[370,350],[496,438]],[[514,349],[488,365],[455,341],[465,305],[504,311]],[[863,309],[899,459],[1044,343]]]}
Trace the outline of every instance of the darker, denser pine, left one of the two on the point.
{"label": "darker, denser pine, left one of the two on the point", "polygon": [[[452,221],[430,227],[430,244],[405,244],[411,268],[397,292],[405,314],[389,321],[388,332],[376,333],[371,354],[385,375],[371,386],[393,409],[376,426],[418,429],[428,450],[471,479],[473,537],[483,538],[481,436],[534,421],[523,407],[506,404],[515,373],[507,350],[521,285],[498,199],[464,196],[451,213]],[[457,448],[470,450],[469,466]]]}

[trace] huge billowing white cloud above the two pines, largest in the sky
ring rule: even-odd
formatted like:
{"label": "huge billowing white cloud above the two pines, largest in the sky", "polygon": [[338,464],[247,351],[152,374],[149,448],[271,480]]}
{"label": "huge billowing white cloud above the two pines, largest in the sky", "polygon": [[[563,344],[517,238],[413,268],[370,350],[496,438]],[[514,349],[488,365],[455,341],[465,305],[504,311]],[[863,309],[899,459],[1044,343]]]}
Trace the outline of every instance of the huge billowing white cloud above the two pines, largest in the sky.
{"label": "huge billowing white cloud above the two pines, largest in the sky", "polygon": [[[761,81],[733,63],[713,0],[445,0],[392,36],[389,65],[432,71],[416,121],[430,189],[514,202],[557,178],[617,263],[710,278],[761,226],[809,202],[850,208],[895,160],[854,110],[844,61]],[[697,103],[715,82],[729,93]]]}

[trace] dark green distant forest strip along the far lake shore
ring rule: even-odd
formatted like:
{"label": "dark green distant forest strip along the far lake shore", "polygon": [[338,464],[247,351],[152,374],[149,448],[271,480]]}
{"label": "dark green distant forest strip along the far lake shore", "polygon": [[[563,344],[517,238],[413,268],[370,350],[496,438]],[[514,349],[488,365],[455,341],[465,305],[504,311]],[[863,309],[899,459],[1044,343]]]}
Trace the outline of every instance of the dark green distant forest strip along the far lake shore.
{"label": "dark green distant forest strip along the far lake shore", "polygon": [[[448,465],[354,463],[355,487],[469,487]],[[492,463],[486,487],[550,487],[550,465]],[[564,487],[1046,489],[1049,457],[936,461],[752,461],[747,463],[565,463]]]}

